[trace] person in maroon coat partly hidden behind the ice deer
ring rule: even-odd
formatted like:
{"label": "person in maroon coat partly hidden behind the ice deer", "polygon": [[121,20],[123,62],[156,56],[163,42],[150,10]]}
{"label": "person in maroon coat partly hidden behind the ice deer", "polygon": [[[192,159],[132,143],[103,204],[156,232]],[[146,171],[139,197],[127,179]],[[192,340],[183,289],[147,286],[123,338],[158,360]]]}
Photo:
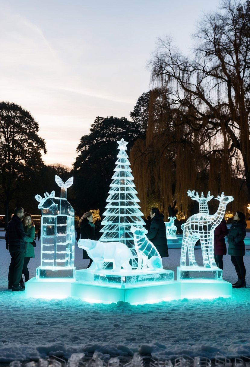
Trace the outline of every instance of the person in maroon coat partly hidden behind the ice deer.
{"label": "person in maroon coat partly hidden behind the ice deer", "polygon": [[214,230],[214,260],[219,269],[223,269],[223,255],[227,254],[225,236],[227,236],[227,224],[223,218]]}

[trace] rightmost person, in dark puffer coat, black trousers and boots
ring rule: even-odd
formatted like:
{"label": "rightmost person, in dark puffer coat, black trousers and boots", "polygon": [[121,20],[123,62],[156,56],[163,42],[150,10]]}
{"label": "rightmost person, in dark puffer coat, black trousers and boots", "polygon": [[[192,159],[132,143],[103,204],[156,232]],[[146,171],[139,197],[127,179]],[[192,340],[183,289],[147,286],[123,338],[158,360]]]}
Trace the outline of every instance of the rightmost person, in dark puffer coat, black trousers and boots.
{"label": "rightmost person, in dark puffer coat, black trousers and boots", "polygon": [[246,268],[243,257],[245,255],[246,237],[246,215],[241,211],[237,211],[234,220],[228,232],[228,255],[231,256],[231,261],[234,264],[238,281],[233,284],[233,288],[246,287]]}

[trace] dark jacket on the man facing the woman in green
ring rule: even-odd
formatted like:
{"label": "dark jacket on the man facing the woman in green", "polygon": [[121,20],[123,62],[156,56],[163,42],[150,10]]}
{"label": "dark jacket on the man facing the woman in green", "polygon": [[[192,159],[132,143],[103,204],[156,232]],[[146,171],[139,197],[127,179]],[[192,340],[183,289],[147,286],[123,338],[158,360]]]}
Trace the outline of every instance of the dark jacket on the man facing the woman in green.
{"label": "dark jacket on the man facing the woman in green", "polygon": [[5,233],[6,249],[9,252],[25,252],[26,242],[33,242],[30,237],[26,236],[21,219],[17,215],[12,215],[11,220],[7,224]]}

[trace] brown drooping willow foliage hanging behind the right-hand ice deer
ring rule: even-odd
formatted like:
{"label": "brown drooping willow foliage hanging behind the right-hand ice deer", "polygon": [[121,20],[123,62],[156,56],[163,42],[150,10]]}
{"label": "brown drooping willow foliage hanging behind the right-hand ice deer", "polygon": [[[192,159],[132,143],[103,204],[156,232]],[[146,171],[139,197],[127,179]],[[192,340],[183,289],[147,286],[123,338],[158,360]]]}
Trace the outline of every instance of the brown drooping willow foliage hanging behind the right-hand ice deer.
{"label": "brown drooping willow foliage hanging behind the right-hand ice deer", "polygon": [[[165,217],[177,211],[180,219],[190,215],[193,202],[187,196],[188,189],[205,195],[210,190],[214,196],[225,191],[235,197],[231,210],[239,203],[246,204],[232,164],[235,159],[228,156],[223,137],[199,128],[194,116],[192,108],[173,108],[168,89],[150,91],[146,137],[138,139],[130,151],[145,214],[157,206]],[[217,202],[211,201],[210,206],[216,210]]]}

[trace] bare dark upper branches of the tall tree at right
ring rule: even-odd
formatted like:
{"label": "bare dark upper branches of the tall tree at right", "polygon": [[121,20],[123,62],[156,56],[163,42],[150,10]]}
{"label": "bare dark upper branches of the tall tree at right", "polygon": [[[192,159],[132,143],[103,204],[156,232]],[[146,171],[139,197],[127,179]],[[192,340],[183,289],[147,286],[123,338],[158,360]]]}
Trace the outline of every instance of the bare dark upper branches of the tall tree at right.
{"label": "bare dark upper branches of the tall tree at right", "polygon": [[[172,110],[185,116],[179,123],[203,137],[210,174],[224,182],[241,175],[250,193],[250,1],[224,1],[204,16],[194,40],[192,59],[159,40],[152,81],[167,88]],[[218,159],[227,163],[222,172]]]}

